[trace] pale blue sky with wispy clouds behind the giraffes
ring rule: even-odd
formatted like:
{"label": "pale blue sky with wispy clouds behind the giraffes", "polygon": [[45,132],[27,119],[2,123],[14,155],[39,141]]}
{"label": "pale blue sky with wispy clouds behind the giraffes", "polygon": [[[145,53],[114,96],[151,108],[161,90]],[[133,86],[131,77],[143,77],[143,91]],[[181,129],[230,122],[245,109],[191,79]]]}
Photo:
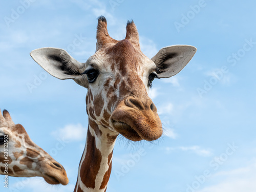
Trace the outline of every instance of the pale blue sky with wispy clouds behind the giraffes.
{"label": "pale blue sky with wispy clouds behind the giraffes", "polygon": [[179,74],[154,81],[150,94],[165,135],[153,145],[118,140],[107,191],[256,191],[255,7],[246,0],[2,1],[0,108],[66,168],[70,183],[9,178],[1,191],[73,191],[87,90],[50,76],[29,53],[57,47],[85,62],[95,52],[99,15],[118,40],[133,19],[150,58],[169,45],[198,49]]}

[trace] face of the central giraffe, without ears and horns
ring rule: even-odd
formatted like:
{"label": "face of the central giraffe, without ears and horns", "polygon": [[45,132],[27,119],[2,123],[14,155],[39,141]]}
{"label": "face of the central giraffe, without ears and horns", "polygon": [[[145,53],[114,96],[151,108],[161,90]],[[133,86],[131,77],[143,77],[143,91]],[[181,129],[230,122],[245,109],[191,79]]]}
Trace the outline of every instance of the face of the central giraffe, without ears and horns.
{"label": "face of the central giraffe, without ears and horns", "polygon": [[148,90],[157,77],[155,63],[124,39],[99,49],[86,62],[87,113],[98,124],[133,141],[162,135]]}

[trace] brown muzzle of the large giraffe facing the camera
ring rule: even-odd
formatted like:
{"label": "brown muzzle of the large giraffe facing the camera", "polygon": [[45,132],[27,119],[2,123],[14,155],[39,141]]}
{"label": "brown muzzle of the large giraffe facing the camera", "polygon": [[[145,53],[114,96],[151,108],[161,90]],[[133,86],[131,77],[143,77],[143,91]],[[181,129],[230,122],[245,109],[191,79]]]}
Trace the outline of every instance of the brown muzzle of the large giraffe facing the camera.
{"label": "brown muzzle of the large giraffe facing the camera", "polygon": [[151,99],[144,103],[135,97],[122,100],[112,113],[111,122],[118,133],[132,141],[153,141],[162,135],[162,124]]}

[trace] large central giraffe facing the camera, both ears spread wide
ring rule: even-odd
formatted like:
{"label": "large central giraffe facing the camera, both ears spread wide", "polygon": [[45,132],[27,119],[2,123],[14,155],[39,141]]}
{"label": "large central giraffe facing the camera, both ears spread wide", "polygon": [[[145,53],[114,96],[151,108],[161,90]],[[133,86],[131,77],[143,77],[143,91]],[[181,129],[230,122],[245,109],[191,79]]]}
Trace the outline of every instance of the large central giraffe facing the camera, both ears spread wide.
{"label": "large central giraffe facing the camera, both ears spread wide", "polygon": [[98,17],[96,52],[84,63],[65,50],[40,48],[31,57],[59,79],[87,88],[88,132],[74,191],[106,191],[119,134],[131,141],[153,141],[162,135],[157,108],[148,91],[155,78],[179,73],[196,53],[193,46],[169,46],[152,58],[140,50],[133,20],[123,40],[113,39],[104,16]]}

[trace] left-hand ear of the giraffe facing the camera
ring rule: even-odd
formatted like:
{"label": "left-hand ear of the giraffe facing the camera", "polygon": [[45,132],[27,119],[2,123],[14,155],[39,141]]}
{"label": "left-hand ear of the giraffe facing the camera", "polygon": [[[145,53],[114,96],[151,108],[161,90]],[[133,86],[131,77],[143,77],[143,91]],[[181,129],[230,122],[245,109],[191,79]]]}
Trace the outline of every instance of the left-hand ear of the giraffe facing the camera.
{"label": "left-hand ear of the giraffe facing the camera", "polygon": [[88,88],[84,75],[85,66],[71,57],[65,50],[58,48],[40,48],[31,51],[30,56],[44,70],[58,79],[73,79],[80,86]]}

